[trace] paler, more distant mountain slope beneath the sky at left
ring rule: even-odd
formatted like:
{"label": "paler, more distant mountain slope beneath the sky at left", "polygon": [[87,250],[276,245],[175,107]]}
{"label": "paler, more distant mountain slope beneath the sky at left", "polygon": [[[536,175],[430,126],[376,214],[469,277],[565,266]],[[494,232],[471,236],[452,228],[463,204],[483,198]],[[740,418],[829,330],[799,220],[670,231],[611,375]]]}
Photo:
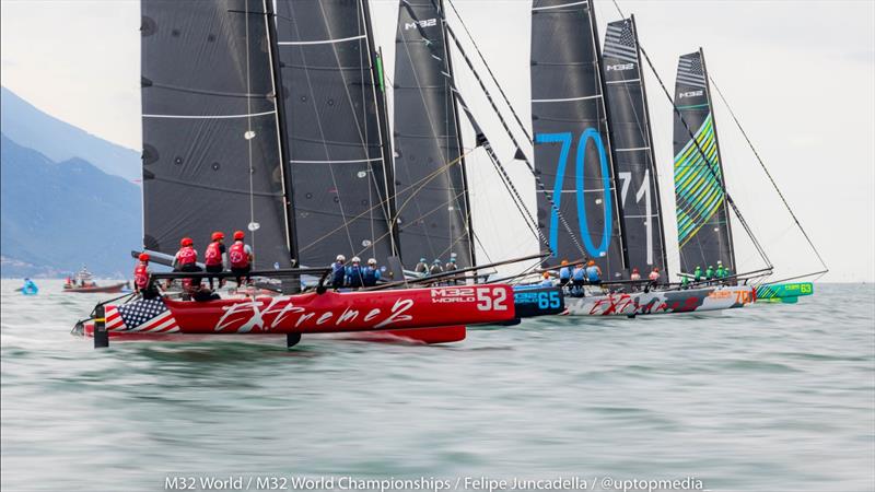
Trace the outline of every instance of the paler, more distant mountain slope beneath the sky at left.
{"label": "paler, more distant mountain slope beneath the sky at left", "polygon": [[15,143],[60,162],[80,157],[125,179],[141,177],[140,154],[49,116],[7,87],[0,87],[0,126]]}

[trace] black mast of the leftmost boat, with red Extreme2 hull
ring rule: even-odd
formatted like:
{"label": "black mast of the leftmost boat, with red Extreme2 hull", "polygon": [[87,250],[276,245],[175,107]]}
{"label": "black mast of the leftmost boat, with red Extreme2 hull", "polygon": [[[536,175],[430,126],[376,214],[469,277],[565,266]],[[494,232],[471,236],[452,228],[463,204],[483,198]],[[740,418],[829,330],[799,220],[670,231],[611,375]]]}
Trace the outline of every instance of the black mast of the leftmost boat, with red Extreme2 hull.
{"label": "black mast of the leftmost boat, with red Extreme2 hull", "polygon": [[277,54],[277,26],[273,13],[273,0],[262,0],[265,9],[265,26],[267,27],[267,46],[268,57],[270,58],[270,74],[273,80],[273,107],[277,112],[277,133],[279,134],[279,152],[280,152],[280,173],[282,178],[282,195],[285,200],[285,242],[289,245],[289,254],[291,255],[292,266],[298,263],[298,245],[295,242],[294,229],[294,189],[292,188],[292,180],[287,169],[285,163],[289,160],[289,151],[285,149],[288,143],[288,136],[285,134],[285,105],[283,99],[285,97],[285,89],[282,86],[280,79],[280,63]]}

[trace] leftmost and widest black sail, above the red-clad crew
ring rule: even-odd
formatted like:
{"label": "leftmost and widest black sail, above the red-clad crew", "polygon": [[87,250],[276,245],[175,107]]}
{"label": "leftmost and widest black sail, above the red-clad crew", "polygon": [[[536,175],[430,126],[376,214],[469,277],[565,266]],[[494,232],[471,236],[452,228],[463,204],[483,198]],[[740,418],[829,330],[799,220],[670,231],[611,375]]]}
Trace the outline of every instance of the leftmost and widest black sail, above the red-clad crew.
{"label": "leftmost and widest black sail, above the red-clad crew", "polygon": [[265,3],[141,4],[144,246],[257,224],[256,268],[290,266]]}

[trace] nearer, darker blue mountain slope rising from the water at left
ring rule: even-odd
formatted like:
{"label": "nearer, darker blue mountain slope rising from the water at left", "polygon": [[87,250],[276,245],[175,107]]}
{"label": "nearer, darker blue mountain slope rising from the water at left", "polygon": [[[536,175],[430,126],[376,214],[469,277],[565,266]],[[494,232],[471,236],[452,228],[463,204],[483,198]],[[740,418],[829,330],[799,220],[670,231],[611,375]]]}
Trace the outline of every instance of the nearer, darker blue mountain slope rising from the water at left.
{"label": "nearer, darker blue mountain slope rising from the water at left", "polygon": [[127,253],[142,241],[138,186],[81,159],[55,163],[5,134],[0,172],[4,277],[82,265],[104,276],[129,273]]}

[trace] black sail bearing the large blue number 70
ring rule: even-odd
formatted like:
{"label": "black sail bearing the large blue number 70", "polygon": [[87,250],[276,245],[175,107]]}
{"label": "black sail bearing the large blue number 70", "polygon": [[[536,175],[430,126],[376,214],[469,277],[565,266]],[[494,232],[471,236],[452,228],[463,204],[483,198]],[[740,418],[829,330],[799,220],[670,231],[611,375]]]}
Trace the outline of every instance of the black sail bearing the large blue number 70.
{"label": "black sail bearing the large blue number 70", "polygon": [[532,119],[535,167],[580,241],[538,196],[538,223],[556,257],[595,259],[607,278],[625,268],[604,80],[591,2],[535,0]]}

